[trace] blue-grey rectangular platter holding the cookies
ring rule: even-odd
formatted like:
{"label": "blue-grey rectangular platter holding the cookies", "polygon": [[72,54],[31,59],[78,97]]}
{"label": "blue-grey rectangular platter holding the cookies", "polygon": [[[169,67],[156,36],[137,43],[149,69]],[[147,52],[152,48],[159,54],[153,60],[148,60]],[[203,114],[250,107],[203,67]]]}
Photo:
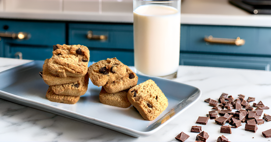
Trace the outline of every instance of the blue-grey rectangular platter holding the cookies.
{"label": "blue-grey rectangular platter holding the cookies", "polygon": [[198,88],[188,84],[138,75],[138,84],[152,79],[168,99],[168,107],[154,121],[144,120],[133,106],[119,108],[100,103],[101,87],[94,86],[91,80],[87,92],[76,104],[50,102],[45,97],[48,85],[39,75],[43,63],[44,61],[33,61],[0,72],[0,98],[140,137],[151,135],[161,129],[201,96]]}

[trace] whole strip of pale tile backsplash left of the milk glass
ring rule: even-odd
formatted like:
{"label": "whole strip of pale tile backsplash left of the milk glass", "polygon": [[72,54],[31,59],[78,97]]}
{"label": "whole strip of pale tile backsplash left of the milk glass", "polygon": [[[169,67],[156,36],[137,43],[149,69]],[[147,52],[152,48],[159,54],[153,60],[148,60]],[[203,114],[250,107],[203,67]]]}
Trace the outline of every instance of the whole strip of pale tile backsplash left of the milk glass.
{"label": "whole strip of pale tile backsplash left of the milk glass", "polygon": [[133,12],[133,0],[0,0],[0,12]]}

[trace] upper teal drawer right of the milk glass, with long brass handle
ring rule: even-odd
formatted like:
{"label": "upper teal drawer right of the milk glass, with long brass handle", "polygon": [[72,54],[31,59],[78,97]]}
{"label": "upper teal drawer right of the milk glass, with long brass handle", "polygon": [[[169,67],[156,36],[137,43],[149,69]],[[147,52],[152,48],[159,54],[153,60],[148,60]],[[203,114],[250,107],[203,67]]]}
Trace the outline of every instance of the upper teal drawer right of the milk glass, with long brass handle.
{"label": "upper teal drawer right of the milk glass, with long brass handle", "polygon": [[[210,52],[228,54],[271,55],[271,28],[218,26],[218,25],[181,25],[180,50],[189,52]],[[242,46],[210,44],[204,37],[245,40]]]}

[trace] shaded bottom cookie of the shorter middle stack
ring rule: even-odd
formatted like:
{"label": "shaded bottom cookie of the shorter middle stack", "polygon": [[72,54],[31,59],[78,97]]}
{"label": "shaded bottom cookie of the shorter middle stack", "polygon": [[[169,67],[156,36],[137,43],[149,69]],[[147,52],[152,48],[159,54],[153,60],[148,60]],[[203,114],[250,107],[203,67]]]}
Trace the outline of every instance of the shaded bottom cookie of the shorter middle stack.
{"label": "shaded bottom cookie of the shorter middle stack", "polygon": [[107,93],[102,87],[99,99],[101,103],[106,105],[127,108],[131,106],[131,103],[127,99],[127,92],[128,90],[116,93]]}

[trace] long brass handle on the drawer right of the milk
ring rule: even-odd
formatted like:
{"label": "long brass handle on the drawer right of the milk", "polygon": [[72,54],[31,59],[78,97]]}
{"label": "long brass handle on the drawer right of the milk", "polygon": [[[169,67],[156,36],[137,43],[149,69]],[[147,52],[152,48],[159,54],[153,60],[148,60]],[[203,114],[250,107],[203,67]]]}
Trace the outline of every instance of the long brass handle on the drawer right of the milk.
{"label": "long brass handle on the drawer right of the milk", "polygon": [[246,42],[244,39],[240,39],[240,37],[237,37],[236,39],[224,39],[224,38],[213,38],[213,36],[205,37],[204,41],[218,44],[233,44],[237,46],[244,45]]}

